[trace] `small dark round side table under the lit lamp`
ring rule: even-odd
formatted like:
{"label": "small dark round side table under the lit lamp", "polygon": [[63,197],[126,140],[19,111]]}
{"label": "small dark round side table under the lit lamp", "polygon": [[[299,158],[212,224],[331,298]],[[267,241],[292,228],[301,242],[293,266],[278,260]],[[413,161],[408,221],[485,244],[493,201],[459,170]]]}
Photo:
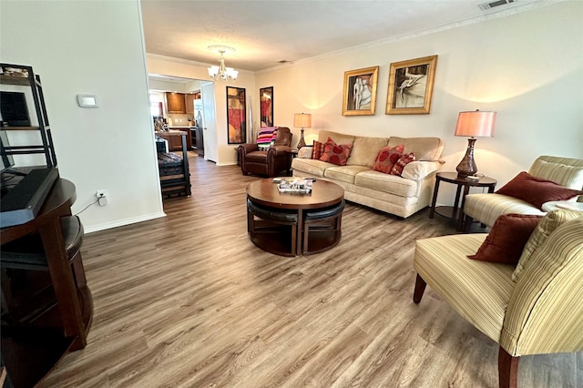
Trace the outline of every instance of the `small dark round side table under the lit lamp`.
{"label": "small dark round side table under the lit lamp", "polygon": [[[435,209],[435,201],[437,200],[437,192],[439,191],[440,182],[453,183],[457,185],[455,191],[454,206],[440,206]],[[488,188],[489,193],[494,192],[497,180],[488,177],[482,177],[478,180],[471,180],[465,178],[458,178],[457,172],[438,172],[435,175],[434,199],[431,202],[431,210],[429,211],[429,218],[433,219],[435,213],[445,218],[457,221],[457,230],[464,230],[464,204],[465,196],[470,192],[470,188]],[[462,195],[462,188],[464,194]],[[462,203],[460,204],[460,197]]]}

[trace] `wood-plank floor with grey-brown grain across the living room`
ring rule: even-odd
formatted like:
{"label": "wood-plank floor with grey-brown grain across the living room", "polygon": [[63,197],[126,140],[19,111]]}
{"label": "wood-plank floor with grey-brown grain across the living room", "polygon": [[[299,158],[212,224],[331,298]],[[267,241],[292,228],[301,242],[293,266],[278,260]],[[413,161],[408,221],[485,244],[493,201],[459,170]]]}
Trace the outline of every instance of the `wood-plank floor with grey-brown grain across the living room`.
{"label": "wood-plank floor with grey-brown grain across the living room", "polygon": [[[88,234],[87,347],[42,387],[496,387],[497,345],[428,287],[414,240],[455,233],[348,203],[334,249],[284,258],[246,231],[237,166],[190,158],[168,217]],[[523,357],[519,387],[582,387],[583,354]]]}

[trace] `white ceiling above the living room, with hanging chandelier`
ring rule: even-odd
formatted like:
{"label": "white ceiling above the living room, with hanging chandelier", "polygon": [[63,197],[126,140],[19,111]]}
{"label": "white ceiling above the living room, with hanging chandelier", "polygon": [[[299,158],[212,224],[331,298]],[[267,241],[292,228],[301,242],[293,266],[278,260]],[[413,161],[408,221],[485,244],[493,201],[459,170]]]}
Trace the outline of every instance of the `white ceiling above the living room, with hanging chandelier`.
{"label": "white ceiling above the living room, with hanging chandelier", "polygon": [[174,1],[141,0],[146,51],[217,64],[210,45],[232,46],[227,66],[258,71],[354,46],[371,45],[490,14],[526,11],[561,0],[515,0],[482,11],[495,0],[407,1]]}

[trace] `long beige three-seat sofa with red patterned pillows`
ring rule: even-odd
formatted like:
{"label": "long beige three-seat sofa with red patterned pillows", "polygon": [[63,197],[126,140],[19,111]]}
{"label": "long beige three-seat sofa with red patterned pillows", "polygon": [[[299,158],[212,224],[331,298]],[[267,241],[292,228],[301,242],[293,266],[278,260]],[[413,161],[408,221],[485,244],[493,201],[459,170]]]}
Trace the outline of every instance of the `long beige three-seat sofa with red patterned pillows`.
{"label": "long beige three-seat sofa with red patterned pillows", "polygon": [[[353,144],[346,166],[312,159],[312,147],[303,147],[292,161],[294,177],[315,177],[340,185],[344,198],[407,218],[429,206],[435,185],[435,172],[444,148],[440,138],[369,138],[321,130],[318,141],[332,138],[336,144]],[[401,177],[373,170],[374,159],[385,146],[404,145],[415,161],[407,164]]]}

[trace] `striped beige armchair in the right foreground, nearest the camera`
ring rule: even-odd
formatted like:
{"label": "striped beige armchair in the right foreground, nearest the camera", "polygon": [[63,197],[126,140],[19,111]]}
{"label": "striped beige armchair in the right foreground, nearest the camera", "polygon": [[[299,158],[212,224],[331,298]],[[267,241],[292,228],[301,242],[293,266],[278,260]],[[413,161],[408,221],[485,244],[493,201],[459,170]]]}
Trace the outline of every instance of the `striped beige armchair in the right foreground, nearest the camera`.
{"label": "striped beige armchair in the right foreground, nearest the camera", "polygon": [[[546,218],[557,222],[566,211],[553,211]],[[563,221],[516,268],[467,258],[476,253],[485,233],[416,241],[414,302],[421,301],[428,284],[497,342],[500,387],[517,387],[520,356],[583,351],[583,212]]]}

